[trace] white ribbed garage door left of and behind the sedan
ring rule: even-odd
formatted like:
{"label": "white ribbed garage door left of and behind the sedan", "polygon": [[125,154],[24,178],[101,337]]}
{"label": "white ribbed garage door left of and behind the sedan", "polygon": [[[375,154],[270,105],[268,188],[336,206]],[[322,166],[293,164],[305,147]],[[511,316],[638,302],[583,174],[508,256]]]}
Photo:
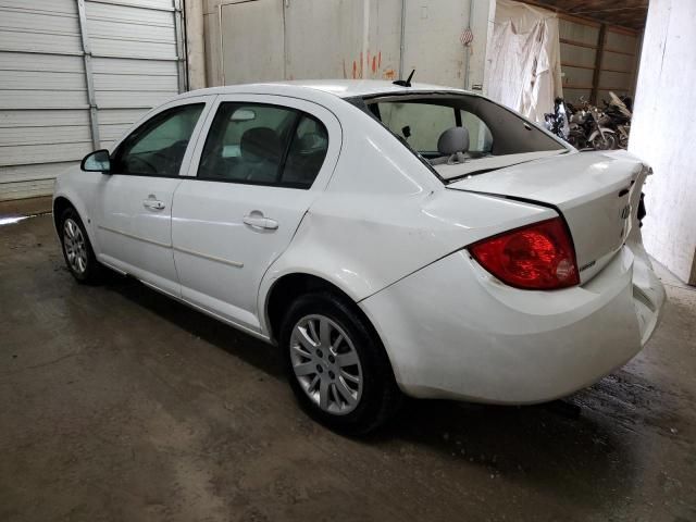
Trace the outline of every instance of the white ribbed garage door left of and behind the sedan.
{"label": "white ribbed garage door left of and behind the sedan", "polygon": [[186,89],[179,0],[0,0],[0,201]]}

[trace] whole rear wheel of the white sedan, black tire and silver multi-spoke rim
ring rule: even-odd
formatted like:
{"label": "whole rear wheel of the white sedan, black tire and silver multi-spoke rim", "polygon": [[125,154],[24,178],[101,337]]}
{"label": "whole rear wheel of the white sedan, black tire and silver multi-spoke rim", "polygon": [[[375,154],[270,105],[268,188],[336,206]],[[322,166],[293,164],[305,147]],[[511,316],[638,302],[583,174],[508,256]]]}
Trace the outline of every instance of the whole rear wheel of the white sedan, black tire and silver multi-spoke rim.
{"label": "whole rear wheel of the white sedan, black tire and silver multi-spoke rim", "polygon": [[298,298],[285,316],[281,347],[300,406],[332,430],[365,434],[400,402],[382,343],[355,303],[340,296]]}

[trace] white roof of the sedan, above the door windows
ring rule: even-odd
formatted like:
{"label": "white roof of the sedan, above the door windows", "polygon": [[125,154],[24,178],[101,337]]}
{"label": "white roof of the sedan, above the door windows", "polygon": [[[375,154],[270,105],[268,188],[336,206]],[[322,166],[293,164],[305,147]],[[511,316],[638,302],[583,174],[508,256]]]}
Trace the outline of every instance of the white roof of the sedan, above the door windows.
{"label": "white roof of the sedan, above the door windows", "polygon": [[334,95],[338,98],[352,98],[360,96],[376,96],[376,95],[398,95],[406,92],[418,91],[450,91],[450,92],[468,92],[463,89],[453,87],[444,87],[440,85],[431,84],[412,84],[411,87],[403,87],[395,85],[388,80],[382,79],[296,79],[285,82],[268,82],[259,84],[239,84],[239,85],[226,85],[223,87],[211,87],[208,89],[192,90],[182,95],[187,96],[200,96],[200,95],[234,95],[241,92],[273,92],[281,94],[286,91],[287,95],[297,92],[297,89],[312,89],[322,92]]}

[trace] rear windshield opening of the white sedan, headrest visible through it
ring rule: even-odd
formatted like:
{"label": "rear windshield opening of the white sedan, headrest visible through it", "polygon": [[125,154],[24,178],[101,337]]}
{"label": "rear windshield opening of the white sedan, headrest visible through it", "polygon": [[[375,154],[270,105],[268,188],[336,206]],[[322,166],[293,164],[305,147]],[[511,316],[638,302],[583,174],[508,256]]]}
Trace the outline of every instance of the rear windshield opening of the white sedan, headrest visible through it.
{"label": "rear windshield opening of the white sedan, headrest visible through it", "polygon": [[377,119],[444,181],[569,150],[519,114],[480,96],[407,94],[350,101]]}

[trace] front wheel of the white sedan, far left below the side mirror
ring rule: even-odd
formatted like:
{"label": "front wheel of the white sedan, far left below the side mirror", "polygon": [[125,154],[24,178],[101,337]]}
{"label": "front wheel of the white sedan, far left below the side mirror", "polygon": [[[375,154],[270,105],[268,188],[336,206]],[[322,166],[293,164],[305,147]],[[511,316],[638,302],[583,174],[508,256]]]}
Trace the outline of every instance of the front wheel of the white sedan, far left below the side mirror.
{"label": "front wheel of the white sedan, far left below the side mirror", "polygon": [[99,283],[102,266],[97,261],[85,225],[75,209],[66,209],[61,215],[60,237],[65,264],[73,277],[79,283]]}

